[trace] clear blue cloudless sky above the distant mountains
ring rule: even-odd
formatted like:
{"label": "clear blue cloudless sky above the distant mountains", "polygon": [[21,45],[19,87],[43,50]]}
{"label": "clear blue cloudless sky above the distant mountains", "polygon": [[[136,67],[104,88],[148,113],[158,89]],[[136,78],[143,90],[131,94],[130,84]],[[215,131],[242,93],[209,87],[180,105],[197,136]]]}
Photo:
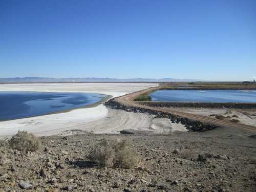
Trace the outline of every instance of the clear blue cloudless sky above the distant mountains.
{"label": "clear blue cloudless sky above the distant mountains", "polygon": [[251,80],[256,1],[0,1],[0,77]]}

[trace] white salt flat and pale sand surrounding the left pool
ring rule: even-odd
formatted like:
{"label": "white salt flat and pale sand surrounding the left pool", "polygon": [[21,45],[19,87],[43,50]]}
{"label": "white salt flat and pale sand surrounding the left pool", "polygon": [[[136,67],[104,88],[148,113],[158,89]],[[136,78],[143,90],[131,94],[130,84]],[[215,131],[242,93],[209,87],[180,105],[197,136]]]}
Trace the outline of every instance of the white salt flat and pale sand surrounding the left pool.
{"label": "white salt flat and pale sand surrounding the left pool", "polygon": [[[157,86],[156,83],[54,83],[54,84],[0,84],[1,91],[90,92],[117,97]],[[69,130],[93,133],[118,133],[124,129],[153,131],[185,131],[183,125],[169,119],[147,114],[108,110],[103,104],[93,108],[76,109],[67,113],[51,114],[0,122],[0,136],[10,136],[27,130],[37,136],[65,134]],[[69,135],[69,132],[66,132]]]}

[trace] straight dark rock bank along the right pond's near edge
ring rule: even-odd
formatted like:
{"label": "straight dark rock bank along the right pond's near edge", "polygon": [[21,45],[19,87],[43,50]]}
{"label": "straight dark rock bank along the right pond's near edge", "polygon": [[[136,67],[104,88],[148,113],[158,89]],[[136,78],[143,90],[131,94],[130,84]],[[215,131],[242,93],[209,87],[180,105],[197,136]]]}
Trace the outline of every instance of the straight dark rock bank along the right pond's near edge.
{"label": "straight dark rock bank along the right pond's near edge", "polygon": [[140,102],[147,106],[161,108],[232,108],[232,109],[256,109],[256,103],[204,103],[204,102]]}

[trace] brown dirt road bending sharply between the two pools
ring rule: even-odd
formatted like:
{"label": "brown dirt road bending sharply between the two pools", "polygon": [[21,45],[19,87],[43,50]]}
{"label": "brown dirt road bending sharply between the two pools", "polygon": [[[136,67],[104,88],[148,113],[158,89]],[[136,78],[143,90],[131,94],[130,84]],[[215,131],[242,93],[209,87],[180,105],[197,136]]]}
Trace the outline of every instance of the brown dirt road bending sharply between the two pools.
{"label": "brown dirt road bending sharply between the two pools", "polygon": [[244,129],[244,130],[247,130],[247,131],[256,132],[256,127],[252,126],[252,125],[246,125],[246,124],[241,124],[241,123],[233,123],[233,122],[229,122],[229,121],[225,121],[225,120],[214,119],[214,118],[211,118],[211,117],[205,117],[205,116],[201,116],[201,115],[184,113],[184,112],[173,110],[173,109],[170,109],[170,108],[158,108],[158,107],[154,107],[154,106],[147,106],[147,105],[140,104],[139,102],[133,101],[139,95],[150,93],[150,92],[155,91],[157,89],[159,89],[159,87],[145,89],[145,90],[138,91],[138,92],[135,92],[135,93],[127,94],[127,95],[115,98],[115,101],[117,101],[119,103],[122,103],[122,104],[125,104],[127,106],[137,106],[139,108],[170,113],[170,114],[173,114],[173,115],[178,115],[180,117],[186,117],[186,118],[197,120],[197,121],[212,123],[212,124],[216,124],[216,125],[223,126],[223,127],[234,127],[234,128]]}

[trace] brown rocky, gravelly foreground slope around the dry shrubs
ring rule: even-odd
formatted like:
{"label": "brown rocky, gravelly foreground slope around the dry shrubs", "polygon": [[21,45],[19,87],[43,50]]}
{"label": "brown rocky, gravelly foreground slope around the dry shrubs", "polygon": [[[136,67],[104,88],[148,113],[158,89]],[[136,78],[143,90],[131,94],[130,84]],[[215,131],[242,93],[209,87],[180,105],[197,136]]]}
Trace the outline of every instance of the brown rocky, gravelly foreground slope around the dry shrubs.
{"label": "brown rocky, gravelly foreground slope around the dry shrubs", "polygon": [[[255,133],[254,133],[255,134]],[[41,137],[37,152],[0,147],[0,191],[256,191],[256,136],[220,129],[169,135]],[[132,169],[100,167],[92,148],[129,139],[141,157]]]}

